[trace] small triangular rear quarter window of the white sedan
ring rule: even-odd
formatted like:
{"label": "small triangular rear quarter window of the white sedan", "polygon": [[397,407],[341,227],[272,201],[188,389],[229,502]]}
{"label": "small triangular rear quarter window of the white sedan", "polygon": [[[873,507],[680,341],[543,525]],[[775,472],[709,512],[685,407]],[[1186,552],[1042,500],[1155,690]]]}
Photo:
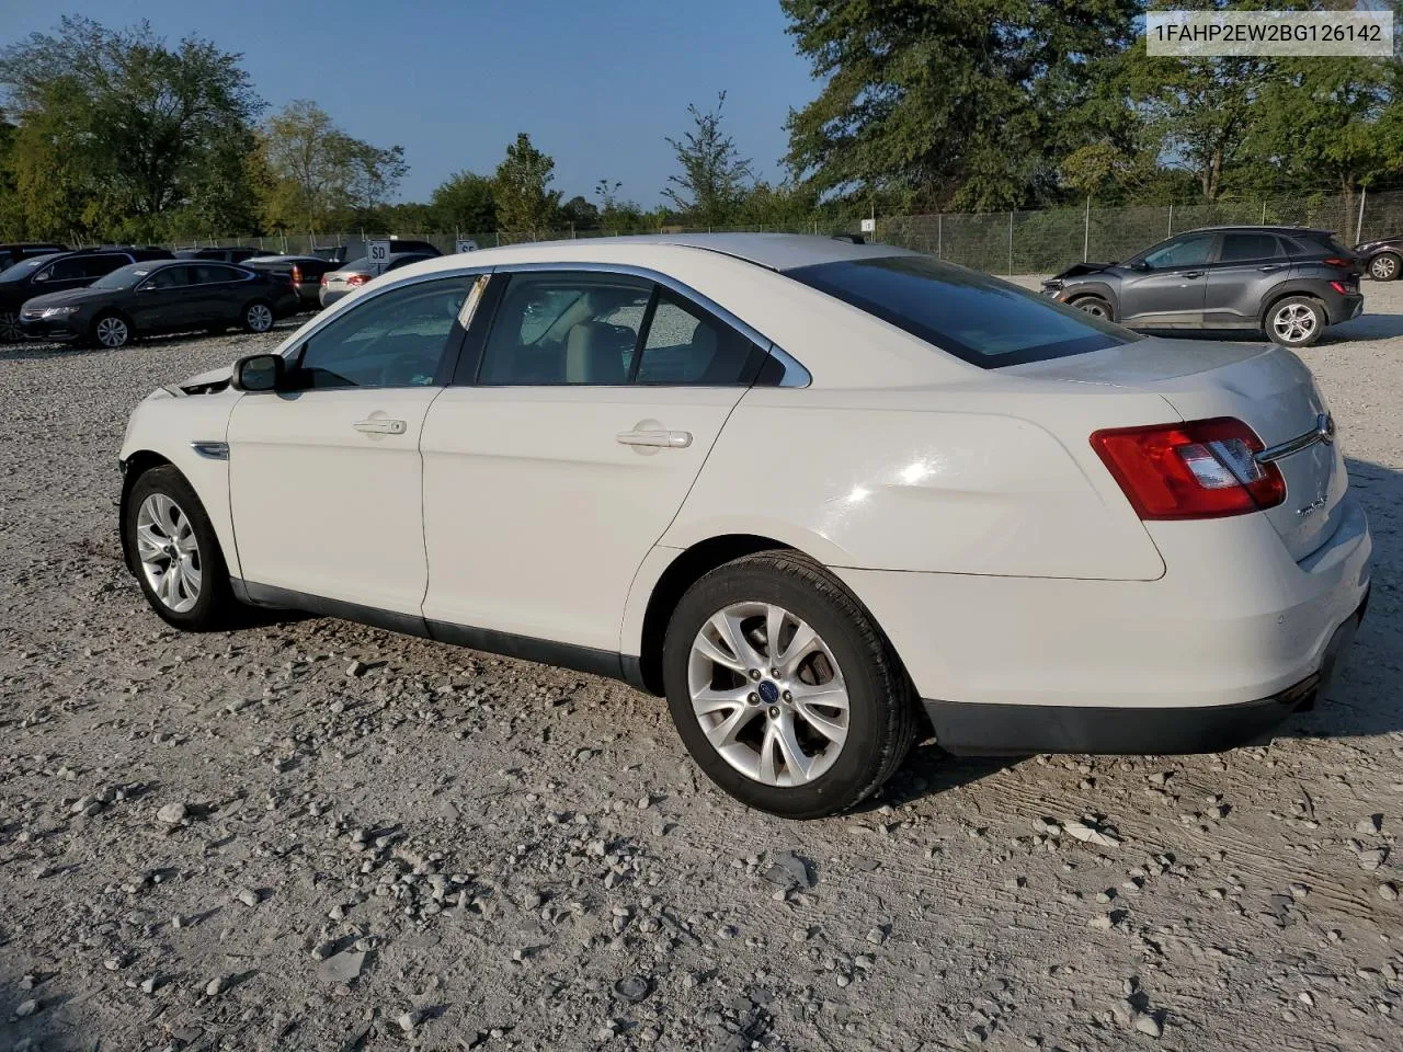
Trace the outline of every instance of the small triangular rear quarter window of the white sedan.
{"label": "small triangular rear quarter window of the white sedan", "polygon": [[730,325],[659,289],[637,380],[713,387],[749,383],[762,358],[763,352]]}

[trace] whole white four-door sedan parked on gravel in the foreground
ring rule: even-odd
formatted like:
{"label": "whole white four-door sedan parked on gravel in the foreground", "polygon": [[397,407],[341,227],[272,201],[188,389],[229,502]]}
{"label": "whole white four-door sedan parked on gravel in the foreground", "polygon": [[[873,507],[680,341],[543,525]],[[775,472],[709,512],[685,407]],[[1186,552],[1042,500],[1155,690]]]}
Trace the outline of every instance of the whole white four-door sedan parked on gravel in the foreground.
{"label": "whole white four-door sedan parked on gravel in the foreground", "polygon": [[1369,591],[1291,352],[817,237],[415,264],[152,394],[121,463],[171,624],[288,607],[622,677],[791,818],[918,734],[1240,743],[1315,701]]}

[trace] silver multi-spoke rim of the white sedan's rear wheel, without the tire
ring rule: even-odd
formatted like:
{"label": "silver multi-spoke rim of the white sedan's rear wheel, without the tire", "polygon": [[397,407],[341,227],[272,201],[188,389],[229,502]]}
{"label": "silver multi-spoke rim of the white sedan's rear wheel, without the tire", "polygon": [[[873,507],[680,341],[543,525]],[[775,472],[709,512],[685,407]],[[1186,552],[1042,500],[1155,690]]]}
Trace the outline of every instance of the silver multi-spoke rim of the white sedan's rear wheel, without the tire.
{"label": "silver multi-spoke rim of the white sedan's rear wheel, without the tire", "polygon": [[833,652],[774,603],[732,603],[707,619],[692,642],[687,689],[711,748],[765,785],[821,777],[847,741],[847,686]]}

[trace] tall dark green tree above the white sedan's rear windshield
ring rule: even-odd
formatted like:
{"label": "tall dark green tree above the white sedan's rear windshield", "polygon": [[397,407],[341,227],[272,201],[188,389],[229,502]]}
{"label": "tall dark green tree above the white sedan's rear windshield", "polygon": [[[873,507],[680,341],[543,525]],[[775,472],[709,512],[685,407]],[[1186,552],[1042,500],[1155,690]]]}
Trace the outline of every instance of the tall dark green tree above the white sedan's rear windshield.
{"label": "tall dark green tree above the white sedan's rear windshield", "polygon": [[1128,135],[1100,90],[1141,0],[780,0],[824,88],[786,157],[824,195],[1003,209],[1058,194],[1056,161]]}

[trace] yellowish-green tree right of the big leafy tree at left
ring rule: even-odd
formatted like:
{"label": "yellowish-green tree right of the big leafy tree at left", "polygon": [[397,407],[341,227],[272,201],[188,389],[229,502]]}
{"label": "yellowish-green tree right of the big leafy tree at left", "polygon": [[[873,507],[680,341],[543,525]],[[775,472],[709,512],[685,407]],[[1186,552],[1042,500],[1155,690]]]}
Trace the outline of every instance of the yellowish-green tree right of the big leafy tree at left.
{"label": "yellowish-green tree right of the big leafy tree at left", "polygon": [[275,227],[310,231],[356,224],[383,205],[408,171],[404,149],[379,147],[337,128],[316,102],[289,102],[262,128],[272,185],[264,205]]}

